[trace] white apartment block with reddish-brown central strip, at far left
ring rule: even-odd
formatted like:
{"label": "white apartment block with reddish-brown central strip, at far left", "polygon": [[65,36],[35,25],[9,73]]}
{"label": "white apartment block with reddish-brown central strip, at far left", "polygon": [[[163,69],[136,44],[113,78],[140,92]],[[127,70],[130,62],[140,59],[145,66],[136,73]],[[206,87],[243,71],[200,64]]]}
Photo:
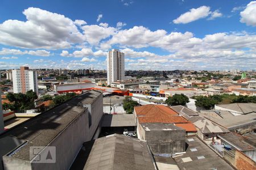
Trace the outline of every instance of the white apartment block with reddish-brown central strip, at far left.
{"label": "white apartment block with reddish-brown central strip, at far left", "polygon": [[38,73],[28,67],[13,70],[13,92],[15,94],[32,90],[38,94]]}

